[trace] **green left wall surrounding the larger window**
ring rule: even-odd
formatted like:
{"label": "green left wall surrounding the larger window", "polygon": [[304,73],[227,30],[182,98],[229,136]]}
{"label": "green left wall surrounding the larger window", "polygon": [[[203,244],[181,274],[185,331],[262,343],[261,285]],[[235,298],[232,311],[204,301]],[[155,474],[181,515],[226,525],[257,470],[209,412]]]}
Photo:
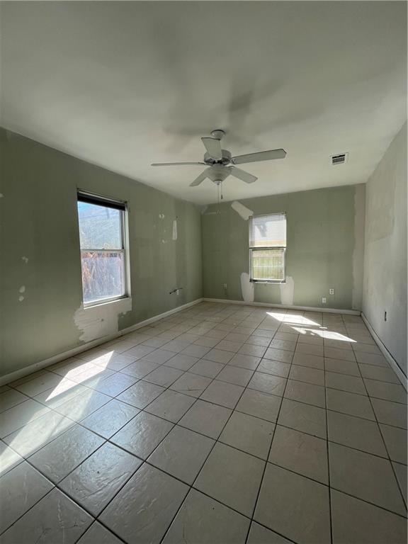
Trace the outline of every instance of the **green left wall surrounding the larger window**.
{"label": "green left wall surrounding the larger window", "polygon": [[[0,375],[202,296],[196,206],[3,129],[0,159]],[[77,188],[128,201],[130,311],[81,309]]]}

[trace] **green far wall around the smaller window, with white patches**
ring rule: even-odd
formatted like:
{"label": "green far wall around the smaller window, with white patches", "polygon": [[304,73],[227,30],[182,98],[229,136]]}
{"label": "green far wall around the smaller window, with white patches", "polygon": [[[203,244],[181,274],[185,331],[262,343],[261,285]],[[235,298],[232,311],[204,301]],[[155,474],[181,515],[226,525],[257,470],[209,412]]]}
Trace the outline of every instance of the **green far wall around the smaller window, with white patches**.
{"label": "green far wall around the smaller window, with white patches", "polygon": [[[287,214],[288,282],[244,281],[249,291],[254,286],[256,302],[361,309],[364,189],[342,186],[239,201],[254,215]],[[211,205],[203,212],[202,232],[204,296],[249,300],[242,292],[242,273],[249,273],[248,220],[232,203]]]}

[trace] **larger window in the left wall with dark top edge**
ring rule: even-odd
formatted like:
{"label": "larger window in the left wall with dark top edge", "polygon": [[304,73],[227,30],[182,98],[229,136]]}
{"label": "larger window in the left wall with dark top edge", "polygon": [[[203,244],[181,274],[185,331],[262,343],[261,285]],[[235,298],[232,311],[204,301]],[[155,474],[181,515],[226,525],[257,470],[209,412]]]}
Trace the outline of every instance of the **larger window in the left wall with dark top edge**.
{"label": "larger window in the left wall with dark top edge", "polygon": [[127,295],[125,203],[78,193],[84,305]]}

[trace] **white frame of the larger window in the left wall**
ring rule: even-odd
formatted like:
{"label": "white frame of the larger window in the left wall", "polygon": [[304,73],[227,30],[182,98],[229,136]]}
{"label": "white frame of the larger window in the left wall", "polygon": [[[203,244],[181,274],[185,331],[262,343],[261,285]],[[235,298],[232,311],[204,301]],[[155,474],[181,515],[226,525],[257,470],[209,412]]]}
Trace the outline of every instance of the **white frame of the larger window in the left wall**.
{"label": "white frame of the larger window in the left wall", "polygon": [[[81,242],[79,242],[79,256],[81,258],[81,251],[94,251],[96,253],[118,253],[123,254],[123,287],[124,294],[118,297],[105,297],[100,300],[91,300],[90,302],[84,301],[84,285],[82,284],[82,261],[81,261],[81,287],[82,287],[82,304],[84,308],[91,308],[108,302],[115,302],[116,300],[123,300],[130,297],[130,264],[129,264],[129,229],[128,229],[128,203],[123,200],[114,200],[106,196],[96,195],[94,193],[88,193],[87,191],[77,190],[77,203],[88,201],[96,205],[111,207],[116,210],[120,210],[120,234],[122,247],[120,249],[95,249],[95,248],[82,248]],[[79,216],[78,216],[79,225]]]}

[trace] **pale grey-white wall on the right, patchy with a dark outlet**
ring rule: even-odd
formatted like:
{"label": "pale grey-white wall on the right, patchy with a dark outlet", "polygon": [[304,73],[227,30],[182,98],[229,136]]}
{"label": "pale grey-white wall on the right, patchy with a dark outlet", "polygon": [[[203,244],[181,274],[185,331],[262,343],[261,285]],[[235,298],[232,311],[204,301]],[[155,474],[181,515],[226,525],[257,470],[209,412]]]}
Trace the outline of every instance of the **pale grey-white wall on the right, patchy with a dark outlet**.
{"label": "pale grey-white wall on the right, patchy with a dark outlet", "polygon": [[363,312],[407,375],[407,123],[367,182]]}

